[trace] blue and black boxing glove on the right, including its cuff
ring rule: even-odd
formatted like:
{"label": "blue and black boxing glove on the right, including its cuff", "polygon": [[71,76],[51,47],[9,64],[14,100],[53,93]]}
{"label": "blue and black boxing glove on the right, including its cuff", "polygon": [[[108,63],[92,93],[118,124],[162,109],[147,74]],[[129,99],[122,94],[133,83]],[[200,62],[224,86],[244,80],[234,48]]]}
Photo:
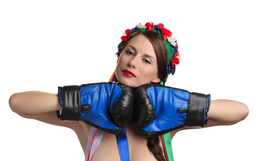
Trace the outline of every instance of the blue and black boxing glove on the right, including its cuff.
{"label": "blue and black boxing glove on the right, including its cuff", "polygon": [[134,93],[134,123],[144,137],[153,137],[182,127],[207,124],[210,94],[156,84],[139,86]]}

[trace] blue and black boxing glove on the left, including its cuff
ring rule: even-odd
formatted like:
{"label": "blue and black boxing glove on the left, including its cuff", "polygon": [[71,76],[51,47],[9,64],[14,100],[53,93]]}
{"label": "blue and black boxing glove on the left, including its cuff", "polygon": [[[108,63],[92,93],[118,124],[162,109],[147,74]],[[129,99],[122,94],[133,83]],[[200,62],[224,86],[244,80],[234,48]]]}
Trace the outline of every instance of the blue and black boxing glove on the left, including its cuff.
{"label": "blue and black boxing glove on the left, including its cuff", "polygon": [[134,96],[129,86],[116,82],[58,87],[61,121],[84,121],[111,134],[133,121]]}

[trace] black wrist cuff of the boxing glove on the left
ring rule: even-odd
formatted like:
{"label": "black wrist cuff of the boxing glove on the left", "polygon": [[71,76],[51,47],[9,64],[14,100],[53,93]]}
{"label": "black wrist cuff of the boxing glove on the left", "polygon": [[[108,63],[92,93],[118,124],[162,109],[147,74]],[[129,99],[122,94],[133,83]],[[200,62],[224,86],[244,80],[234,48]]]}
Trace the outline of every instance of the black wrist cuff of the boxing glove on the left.
{"label": "black wrist cuff of the boxing glove on the left", "polygon": [[58,86],[59,103],[62,107],[57,116],[61,121],[79,121],[81,117],[80,86]]}

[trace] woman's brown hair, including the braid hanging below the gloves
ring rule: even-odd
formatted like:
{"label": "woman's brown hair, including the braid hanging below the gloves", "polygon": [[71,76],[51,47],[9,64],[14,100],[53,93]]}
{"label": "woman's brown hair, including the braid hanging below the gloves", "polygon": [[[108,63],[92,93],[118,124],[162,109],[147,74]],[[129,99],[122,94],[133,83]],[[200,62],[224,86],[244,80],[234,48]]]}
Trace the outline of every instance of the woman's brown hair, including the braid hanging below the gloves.
{"label": "woman's brown hair, including the braid hanging below the gloves", "polygon": [[[125,41],[125,45],[122,47],[122,50],[128,44],[129,40],[131,40],[135,35],[139,35],[139,34],[144,35],[151,42],[157,57],[158,77],[161,79],[161,81],[163,81],[163,85],[165,85],[165,82],[168,78],[168,74],[167,74],[168,53],[163,43],[163,40],[156,33],[151,31],[146,31],[146,32],[139,31],[138,33],[130,36]],[[120,51],[120,53],[122,52],[122,50]],[[163,156],[163,150],[159,146],[160,140],[158,136],[147,138],[147,140],[148,140],[147,147],[153,153],[157,161],[165,161],[165,157]]]}

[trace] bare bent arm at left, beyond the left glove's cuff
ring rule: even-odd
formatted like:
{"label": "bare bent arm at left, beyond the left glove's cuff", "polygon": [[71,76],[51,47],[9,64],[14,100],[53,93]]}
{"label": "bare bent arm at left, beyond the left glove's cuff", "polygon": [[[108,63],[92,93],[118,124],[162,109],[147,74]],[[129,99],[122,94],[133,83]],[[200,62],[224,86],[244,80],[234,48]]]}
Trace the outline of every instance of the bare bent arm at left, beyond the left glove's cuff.
{"label": "bare bent arm at left, beyond the left glove's cuff", "polygon": [[13,112],[24,118],[69,127],[73,130],[81,127],[80,121],[60,121],[58,119],[56,111],[62,109],[58,94],[40,91],[14,93],[9,99],[9,106]]}

